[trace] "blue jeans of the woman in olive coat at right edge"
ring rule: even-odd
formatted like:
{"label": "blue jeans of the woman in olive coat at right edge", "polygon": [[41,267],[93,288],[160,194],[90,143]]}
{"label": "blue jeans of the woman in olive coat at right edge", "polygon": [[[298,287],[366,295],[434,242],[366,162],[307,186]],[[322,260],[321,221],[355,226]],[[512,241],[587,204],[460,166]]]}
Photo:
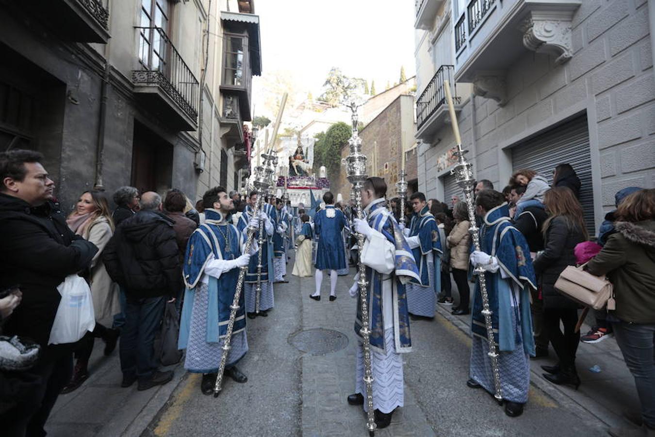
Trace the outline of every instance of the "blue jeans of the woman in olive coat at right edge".
{"label": "blue jeans of the woman in olive coat at right edge", "polygon": [[614,337],[635,378],[641,417],[655,428],[655,324],[614,323]]}

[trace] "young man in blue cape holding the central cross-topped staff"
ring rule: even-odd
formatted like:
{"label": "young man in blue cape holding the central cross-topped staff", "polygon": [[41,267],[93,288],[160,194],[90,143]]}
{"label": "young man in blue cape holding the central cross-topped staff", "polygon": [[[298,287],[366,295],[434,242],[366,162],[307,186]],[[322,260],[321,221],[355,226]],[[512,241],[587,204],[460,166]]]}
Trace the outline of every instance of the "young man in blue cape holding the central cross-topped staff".
{"label": "young man in blue cape holding the central cross-topped staff", "polygon": [[[411,351],[409,313],[405,284],[419,279],[409,244],[393,214],[386,209],[386,183],[383,178],[368,178],[362,188],[362,206],[366,219],[354,219],[356,232],[365,236],[362,260],[366,266],[368,307],[371,330],[371,367],[373,371],[373,408],[378,428],[385,428],[398,407],[404,404],[402,352]],[[359,275],[359,274],[358,274]],[[358,275],[350,295],[358,294]],[[361,337],[362,307],[358,299],[355,333]],[[356,392],[348,404],[364,405],[364,351],[357,348]]]}

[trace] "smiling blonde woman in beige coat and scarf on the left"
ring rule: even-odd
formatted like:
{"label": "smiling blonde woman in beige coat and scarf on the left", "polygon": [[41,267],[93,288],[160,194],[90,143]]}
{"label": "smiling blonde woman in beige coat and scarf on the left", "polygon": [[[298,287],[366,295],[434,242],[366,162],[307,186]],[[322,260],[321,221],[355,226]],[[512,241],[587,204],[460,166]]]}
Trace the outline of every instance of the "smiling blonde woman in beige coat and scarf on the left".
{"label": "smiling blonde woman in beige coat and scarf on the left", "polygon": [[105,341],[105,355],[110,354],[116,347],[119,331],[107,328],[100,322],[121,311],[118,286],[111,280],[102,262],[102,252],[114,232],[109,204],[102,191],[82,193],[77,200],[75,210],[66,221],[73,232],[95,244],[98,247],[98,253],[93,257],[88,272],[93,309],[96,315],[96,328],[93,332],[87,332],[79,342],[80,346],[75,350],[77,363],[73,370],[73,377],[62,393],[69,393],[77,389],[88,378],[88,360],[93,351],[96,337]]}

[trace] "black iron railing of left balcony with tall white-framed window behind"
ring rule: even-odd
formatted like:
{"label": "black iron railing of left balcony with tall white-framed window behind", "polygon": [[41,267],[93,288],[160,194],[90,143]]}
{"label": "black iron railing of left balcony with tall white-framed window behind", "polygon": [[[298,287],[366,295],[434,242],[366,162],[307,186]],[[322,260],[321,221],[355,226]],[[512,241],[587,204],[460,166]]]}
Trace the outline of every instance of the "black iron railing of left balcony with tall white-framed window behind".
{"label": "black iron railing of left balcony with tall white-framed window behind", "polygon": [[141,28],[134,84],[159,86],[194,121],[198,117],[198,81],[161,28]]}

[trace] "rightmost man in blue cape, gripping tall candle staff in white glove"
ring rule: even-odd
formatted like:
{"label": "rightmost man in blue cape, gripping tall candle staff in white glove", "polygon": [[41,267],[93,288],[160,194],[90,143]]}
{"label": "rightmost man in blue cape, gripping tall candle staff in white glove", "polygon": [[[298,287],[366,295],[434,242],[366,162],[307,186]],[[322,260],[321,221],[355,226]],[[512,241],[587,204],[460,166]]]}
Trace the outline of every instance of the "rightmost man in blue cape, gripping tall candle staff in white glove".
{"label": "rightmost man in blue cape, gripping tall candle staff in white glove", "polygon": [[[477,193],[476,214],[483,218],[479,230],[481,250],[474,251],[470,261],[472,267],[485,270],[505,413],[517,417],[528,400],[529,356],[534,356],[530,289],[536,288],[536,280],[530,248],[525,237],[512,226],[502,193],[491,189]],[[481,312],[482,297],[477,282],[471,324],[470,379],[466,384],[493,394],[487,328]]]}

